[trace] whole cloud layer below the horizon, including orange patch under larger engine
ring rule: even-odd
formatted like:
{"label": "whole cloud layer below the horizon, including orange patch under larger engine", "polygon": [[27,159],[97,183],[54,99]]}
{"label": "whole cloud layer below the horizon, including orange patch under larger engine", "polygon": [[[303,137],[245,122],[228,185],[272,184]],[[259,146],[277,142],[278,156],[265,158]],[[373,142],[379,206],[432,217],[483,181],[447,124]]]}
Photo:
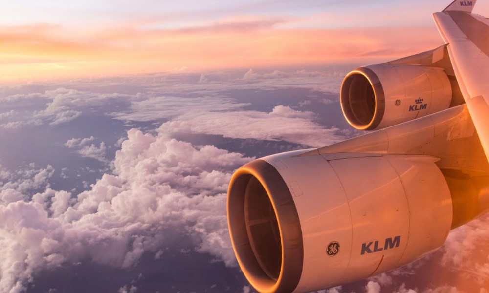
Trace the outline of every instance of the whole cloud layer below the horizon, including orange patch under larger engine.
{"label": "whole cloud layer below the horizon, including orange patch under larger engine", "polygon": [[[244,144],[253,156],[270,141],[290,149],[352,135],[324,120],[339,111],[331,94],[341,83],[338,72],[182,69],[84,83],[0,88],[1,139],[23,134],[31,143],[32,133],[55,133],[38,136],[51,143],[45,152],[42,144],[27,149],[53,157],[64,151],[61,161],[82,162],[16,169],[18,162],[7,168],[2,161],[0,292],[22,292],[40,272],[60,266],[131,270],[145,256],[163,261],[168,253],[206,253],[234,266],[225,192],[232,171],[251,158],[225,149],[242,151]],[[98,173],[90,181],[92,171]],[[80,176],[85,191],[57,188],[58,174]],[[401,269],[320,292],[486,293],[487,223],[483,217],[460,227],[442,250]],[[121,285],[121,292],[137,290],[137,284]],[[246,285],[238,289],[251,292]]]}

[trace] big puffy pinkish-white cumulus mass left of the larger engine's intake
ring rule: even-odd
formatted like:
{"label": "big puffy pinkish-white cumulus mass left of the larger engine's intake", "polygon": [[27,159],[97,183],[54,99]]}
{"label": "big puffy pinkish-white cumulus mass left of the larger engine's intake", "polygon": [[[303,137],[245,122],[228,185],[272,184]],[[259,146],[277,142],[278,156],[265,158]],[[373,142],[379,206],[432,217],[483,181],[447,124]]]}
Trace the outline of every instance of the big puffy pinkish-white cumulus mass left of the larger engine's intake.
{"label": "big puffy pinkish-white cumulus mass left of the larger engine's intake", "polygon": [[[69,140],[67,146],[84,140],[93,138]],[[182,237],[197,240],[196,251],[235,265],[226,190],[232,171],[249,160],[132,129],[116,153],[113,174],[76,198],[46,188],[30,200],[22,197],[21,184],[11,184],[4,190],[17,200],[0,205],[0,292],[25,290],[36,272],[67,263],[130,268],[144,252],[158,258],[162,247],[182,245],[175,240]],[[50,174],[52,168],[32,170],[30,185],[37,187]],[[119,292],[136,290],[124,286]]]}

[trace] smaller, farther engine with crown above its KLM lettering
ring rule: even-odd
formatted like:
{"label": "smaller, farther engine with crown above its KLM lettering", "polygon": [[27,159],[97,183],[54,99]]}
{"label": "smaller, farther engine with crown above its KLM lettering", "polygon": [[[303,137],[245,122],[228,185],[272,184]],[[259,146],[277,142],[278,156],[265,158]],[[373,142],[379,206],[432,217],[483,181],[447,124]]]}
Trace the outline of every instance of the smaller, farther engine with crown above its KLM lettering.
{"label": "smaller, farther engine with crown above its KLM lettering", "polygon": [[348,73],[341,85],[341,109],[360,130],[393,126],[448,109],[452,85],[443,68],[376,64]]}

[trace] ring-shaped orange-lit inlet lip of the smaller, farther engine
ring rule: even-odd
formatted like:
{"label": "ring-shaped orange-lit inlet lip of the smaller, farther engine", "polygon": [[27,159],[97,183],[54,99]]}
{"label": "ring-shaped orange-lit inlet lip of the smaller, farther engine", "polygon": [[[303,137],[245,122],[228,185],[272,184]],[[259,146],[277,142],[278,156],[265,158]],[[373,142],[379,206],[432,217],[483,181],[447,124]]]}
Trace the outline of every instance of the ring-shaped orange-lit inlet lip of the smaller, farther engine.
{"label": "ring-shaped orange-lit inlet lip of the smaller, farther engine", "polygon": [[[369,123],[362,123],[354,114],[354,110],[352,109],[352,105],[350,105],[350,87],[353,79],[357,76],[361,75],[365,78],[372,90],[374,91],[375,96],[375,110],[372,115],[372,118]],[[359,67],[350,73],[348,73],[343,79],[343,83],[341,84],[340,90],[340,104],[341,110],[343,111],[343,115],[345,116],[348,123],[355,127],[358,130],[374,130],[382,121],[385,112],[385,95],[384,90],[382,88],[382,84],[378,76],[368,67]]]}

